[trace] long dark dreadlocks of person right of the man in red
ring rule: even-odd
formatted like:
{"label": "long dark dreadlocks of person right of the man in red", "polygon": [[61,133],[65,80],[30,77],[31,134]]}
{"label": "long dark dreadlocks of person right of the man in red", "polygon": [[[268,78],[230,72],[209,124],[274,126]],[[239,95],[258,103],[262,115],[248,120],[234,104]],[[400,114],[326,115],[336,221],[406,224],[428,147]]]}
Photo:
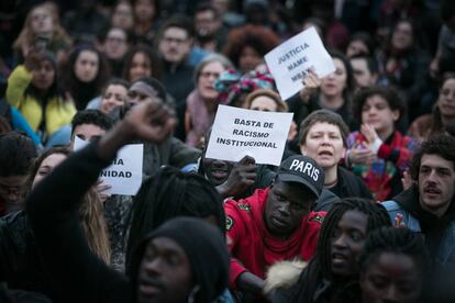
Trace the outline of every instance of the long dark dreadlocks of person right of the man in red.
{"label": "long dark dreadlocks of person right of the man in red", "polygon": [[371,200],[346,198],[334,203],[322,223],[317,254],[300,274],[297,288],[293,288],[292,302],[313,302],[314,292],[320,283],[323,280],[330,282],[334,280],[331,269],[331,242],[340,220],[348,211],[358,211],[368,216],[367,233],[382,226],[390,226],[390,217],[386,209]]}

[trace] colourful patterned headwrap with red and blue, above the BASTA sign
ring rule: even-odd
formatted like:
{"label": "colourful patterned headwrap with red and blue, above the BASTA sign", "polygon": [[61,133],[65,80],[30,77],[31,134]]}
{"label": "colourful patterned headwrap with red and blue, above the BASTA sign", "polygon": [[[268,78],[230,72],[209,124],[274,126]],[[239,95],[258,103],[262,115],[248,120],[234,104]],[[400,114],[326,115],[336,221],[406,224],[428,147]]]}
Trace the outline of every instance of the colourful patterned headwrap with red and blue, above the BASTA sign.
{"label": "colourful patterned headwrap with red and blue, above the BASTA sign", "polygon": [[220,93],[220,103],[230,104],[240,94],[249,93],[258,88],[275,90],[275,79],[268,70],[251,70],[242,76],[233,69],[228,69],[221,72],[214,88]]}

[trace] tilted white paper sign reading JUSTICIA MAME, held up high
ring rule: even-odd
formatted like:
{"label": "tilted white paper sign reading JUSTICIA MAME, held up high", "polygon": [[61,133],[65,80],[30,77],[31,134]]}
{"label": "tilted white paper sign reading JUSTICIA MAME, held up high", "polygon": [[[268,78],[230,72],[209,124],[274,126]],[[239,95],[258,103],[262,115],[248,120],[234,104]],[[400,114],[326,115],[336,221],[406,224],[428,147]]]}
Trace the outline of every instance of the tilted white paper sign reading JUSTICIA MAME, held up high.
{"label": "tilted white paper sign reading JUSTICIA MAME, held up high", "polygon": [[265,60],[275,78],[282,100],[303,88],[302,79],[313,68],[320,78],[335,66],[314,27],[310,27],[275,47]]}

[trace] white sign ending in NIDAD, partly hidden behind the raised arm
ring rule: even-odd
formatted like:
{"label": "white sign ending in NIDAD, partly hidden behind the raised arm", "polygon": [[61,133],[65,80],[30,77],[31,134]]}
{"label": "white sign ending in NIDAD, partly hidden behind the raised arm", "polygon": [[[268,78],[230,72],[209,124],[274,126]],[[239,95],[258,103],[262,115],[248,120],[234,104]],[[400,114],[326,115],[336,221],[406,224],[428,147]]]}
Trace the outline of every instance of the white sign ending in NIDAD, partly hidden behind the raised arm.
{"label": "white sign ending in NIDAD, partly hidden behind the raised arm", "polygon": [[[76,136],[74,150],[78,150],[87,144],[89,143]],[[106,193],[126,195],[137,193],[142,183],[143,152],[143,144],[125,145],[119,150],[112,165],[100,173],[100,179],[111,186],[111,189]]]}

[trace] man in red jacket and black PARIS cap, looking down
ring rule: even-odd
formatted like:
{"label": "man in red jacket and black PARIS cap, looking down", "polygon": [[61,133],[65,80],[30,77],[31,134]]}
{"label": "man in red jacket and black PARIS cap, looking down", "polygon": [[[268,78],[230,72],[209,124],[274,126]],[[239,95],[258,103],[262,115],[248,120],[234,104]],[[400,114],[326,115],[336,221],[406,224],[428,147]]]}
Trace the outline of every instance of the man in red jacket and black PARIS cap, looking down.
{"label": "man in red jacket and black PARIS cap, looking down", "polygon": [[311,210],[323,186],[323,170],[298,155],[280,165],[270,188],[225,203],[231,289],[259,294],[269,266],[314,255],[325,213]]}

